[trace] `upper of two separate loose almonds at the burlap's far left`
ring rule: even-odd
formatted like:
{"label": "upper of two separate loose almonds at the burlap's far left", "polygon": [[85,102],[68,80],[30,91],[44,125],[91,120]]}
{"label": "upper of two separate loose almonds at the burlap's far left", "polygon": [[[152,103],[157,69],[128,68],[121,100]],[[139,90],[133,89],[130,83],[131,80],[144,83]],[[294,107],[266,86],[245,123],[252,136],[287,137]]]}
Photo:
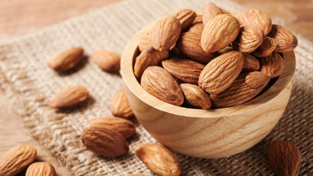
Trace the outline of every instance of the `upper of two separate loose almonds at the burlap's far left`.
{"label": "upper of two separate loose almonds at the burlap's far left", "polygon": [[83,57],[83,48],[70,48],[53,54],[47,65],[55,71],[64,72],[73,68]]}

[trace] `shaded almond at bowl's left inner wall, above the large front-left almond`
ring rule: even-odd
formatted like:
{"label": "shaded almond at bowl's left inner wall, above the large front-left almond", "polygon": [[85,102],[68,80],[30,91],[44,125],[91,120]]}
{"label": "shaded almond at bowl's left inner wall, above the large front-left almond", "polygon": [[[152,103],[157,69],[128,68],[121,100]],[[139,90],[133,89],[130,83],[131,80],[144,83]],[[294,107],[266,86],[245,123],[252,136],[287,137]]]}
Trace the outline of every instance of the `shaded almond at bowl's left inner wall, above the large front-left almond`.
{"label": "shaded almond at bowl's left inner wall, above the large front-left almond", "polygon": [[140,80],[142,73],[149,66],[160,65],[163,60],[168,58],[167,51],[159,51],[153,47],[147,47],[136,58],[134,65],[134,74],[138,80]]}

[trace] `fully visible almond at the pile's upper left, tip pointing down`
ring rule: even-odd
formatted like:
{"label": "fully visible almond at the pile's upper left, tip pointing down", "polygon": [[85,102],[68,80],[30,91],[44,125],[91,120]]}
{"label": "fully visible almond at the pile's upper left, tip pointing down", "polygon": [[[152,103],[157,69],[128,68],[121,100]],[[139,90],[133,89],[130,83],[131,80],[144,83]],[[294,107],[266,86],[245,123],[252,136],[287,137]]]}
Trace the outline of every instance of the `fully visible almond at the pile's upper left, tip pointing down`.
{"label": "fully visible almond at the pile's upper left, tip pointing down", "polygon": [[177,18],[167,17],[157,21],[150,32],[153,48],[160,51],[170,49],[179,38],[181,28]]}

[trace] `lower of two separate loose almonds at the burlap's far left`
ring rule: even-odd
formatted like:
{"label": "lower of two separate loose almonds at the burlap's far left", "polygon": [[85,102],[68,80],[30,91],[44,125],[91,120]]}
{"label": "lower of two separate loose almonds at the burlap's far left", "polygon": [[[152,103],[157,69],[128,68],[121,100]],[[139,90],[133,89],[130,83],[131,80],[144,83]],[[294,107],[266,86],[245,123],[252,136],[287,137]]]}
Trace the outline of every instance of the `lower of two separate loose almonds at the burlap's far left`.
{"label": "lower of two separate loose almonds at the burlap's far left", "polygon": [[75,106],[85,101],[88,96],[89,92],[85,87],[81,85],[69,86],[55,94],[49,106],[52,108]]}

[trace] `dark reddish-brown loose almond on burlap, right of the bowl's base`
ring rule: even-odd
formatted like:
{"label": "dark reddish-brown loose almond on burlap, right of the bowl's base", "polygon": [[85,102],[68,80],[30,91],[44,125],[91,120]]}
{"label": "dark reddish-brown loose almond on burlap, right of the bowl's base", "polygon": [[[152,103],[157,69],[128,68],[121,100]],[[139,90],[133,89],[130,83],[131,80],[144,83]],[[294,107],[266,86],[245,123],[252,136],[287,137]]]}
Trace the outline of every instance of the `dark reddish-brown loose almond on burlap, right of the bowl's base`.
{"label": "dark reddish-brown loose almond on burlap, right of the bowl's base", "polygon": [[289,141],[277,141],[269,148],[269,164],[278,176],[297,176],[300,171],[301,153]]}

